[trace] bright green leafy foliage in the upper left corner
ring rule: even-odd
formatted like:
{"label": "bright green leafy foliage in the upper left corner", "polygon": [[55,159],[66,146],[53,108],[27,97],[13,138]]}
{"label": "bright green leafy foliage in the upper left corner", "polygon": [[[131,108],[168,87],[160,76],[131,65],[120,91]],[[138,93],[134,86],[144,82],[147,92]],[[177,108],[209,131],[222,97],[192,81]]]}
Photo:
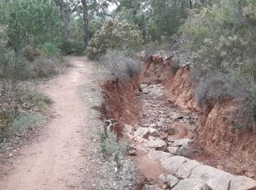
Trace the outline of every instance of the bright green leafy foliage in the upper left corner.
{"label": "bright green leafy foliage in the upper left corner", "polygon": [[16,53],[26,45],[56,42],[60,32],[59,11],[51,0],[20,0],[1,4],[6,9],[0,23],[8,26],[7,36]]}

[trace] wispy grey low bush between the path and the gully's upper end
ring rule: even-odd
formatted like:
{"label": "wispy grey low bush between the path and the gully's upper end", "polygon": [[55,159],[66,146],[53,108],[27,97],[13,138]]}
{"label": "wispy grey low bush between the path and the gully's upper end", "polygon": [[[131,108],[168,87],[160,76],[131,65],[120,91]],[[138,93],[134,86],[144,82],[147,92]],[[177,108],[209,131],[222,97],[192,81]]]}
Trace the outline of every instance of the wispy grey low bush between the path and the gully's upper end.
{"label": "wispy grey low bush between the path and the gully's upper end", "polygon": [[138,75],[142,66],[138,59],[132,58],[122,50],[108,50],[99,58],[99,64],[118,80],[129,80]]}

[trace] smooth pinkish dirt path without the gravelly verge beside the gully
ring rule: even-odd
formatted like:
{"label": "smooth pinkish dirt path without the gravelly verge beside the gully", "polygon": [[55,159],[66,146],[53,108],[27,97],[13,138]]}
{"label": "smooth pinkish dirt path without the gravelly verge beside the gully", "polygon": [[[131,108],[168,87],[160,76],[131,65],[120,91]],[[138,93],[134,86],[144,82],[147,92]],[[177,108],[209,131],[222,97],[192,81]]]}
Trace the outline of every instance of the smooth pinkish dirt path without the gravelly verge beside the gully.
{"label": "smooth pinkish dirt path without the gravelly verge beside the gully", "polygon": [[[42,92],[53,99],[56,118],[48,124],[45,134],[20,149],[20,156],[13,161],[14,170],[1,180],[0,189],[81,188],[80,170],[86,162],[83,130],[87,127],[88,107],[82,106],[78,90],[90,83],[85,74],[91,67],[80,58],[72,58],[70,62],[74,66],[67,73],[42,86]],[[93,176],[94,168],[90,172]]]}

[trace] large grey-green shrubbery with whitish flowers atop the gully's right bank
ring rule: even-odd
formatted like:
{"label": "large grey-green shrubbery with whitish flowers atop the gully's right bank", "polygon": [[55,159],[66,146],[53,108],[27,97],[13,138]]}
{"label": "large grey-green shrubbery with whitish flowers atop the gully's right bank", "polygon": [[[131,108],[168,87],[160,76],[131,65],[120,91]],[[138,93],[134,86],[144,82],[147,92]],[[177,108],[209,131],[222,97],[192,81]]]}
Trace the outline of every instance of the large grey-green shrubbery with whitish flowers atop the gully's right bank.
{"label": "large grey-green shrubbery with whitish flowers atop the gully's right bank", "polygon": [[241,99],[234,118],[242,128],[255,128],[255,10],[253,1],[216,0],[192,10],[179,31],[192,58],[198,103]]}

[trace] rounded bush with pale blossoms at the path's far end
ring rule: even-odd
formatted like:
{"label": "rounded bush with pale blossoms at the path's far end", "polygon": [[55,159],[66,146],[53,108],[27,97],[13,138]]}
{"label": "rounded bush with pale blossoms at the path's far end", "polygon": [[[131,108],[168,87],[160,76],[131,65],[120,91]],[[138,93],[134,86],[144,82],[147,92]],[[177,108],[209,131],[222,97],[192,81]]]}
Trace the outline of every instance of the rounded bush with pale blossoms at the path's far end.
{"label": "rounded bush with pale blossoms at the path's far end", "polygon": [[142,39],[140,31],[127,21],[106,20],[102,28],[91,39],[87,54],[89,58],[97,58],[107,50],[116,48],[128,51],[140,50]]}

